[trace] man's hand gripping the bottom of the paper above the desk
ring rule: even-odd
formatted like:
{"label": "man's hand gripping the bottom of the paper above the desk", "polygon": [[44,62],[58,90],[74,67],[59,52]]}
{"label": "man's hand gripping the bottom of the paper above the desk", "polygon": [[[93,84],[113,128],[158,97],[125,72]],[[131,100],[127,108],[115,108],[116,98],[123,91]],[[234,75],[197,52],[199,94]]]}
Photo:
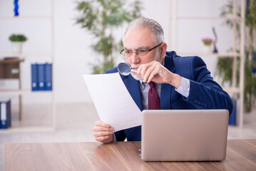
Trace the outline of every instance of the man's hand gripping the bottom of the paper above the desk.
{"label": "man's hand gripping the bottom of the paper above the desk", "polygon": [[113,142],[113,128],[108,123],[101,120],[95,122],[93,127],[93,136],[95,140],[103,143]]}

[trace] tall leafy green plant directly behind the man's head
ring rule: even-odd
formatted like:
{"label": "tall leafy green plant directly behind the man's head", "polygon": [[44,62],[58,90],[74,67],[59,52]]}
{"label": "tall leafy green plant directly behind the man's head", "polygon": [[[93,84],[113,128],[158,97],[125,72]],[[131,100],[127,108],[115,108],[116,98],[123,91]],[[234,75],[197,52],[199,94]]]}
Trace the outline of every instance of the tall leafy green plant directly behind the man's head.
{"label": "tall leafy green plant directly behind the man's head", "polygon": [[80,14],[76,24],[94,36],[91,48],[101,56],[93,63],[93,74],[106,73],[115,66],[115,57],[122,49],[121,40],[115,40],[113,32],[140,16],[140,2],[126,4],[124,0],[86,0],[77,2],[76,9]]}

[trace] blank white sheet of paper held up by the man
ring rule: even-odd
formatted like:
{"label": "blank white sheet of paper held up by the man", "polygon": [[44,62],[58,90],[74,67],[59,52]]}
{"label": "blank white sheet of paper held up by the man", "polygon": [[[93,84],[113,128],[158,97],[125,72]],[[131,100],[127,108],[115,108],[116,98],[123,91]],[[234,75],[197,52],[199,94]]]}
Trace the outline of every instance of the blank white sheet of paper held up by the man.
{"label": "blank white sheet of paper held up by the man", "polygon": [[83,75],[98,115],[114,132],[142,123],[142,114],[119,73]]}

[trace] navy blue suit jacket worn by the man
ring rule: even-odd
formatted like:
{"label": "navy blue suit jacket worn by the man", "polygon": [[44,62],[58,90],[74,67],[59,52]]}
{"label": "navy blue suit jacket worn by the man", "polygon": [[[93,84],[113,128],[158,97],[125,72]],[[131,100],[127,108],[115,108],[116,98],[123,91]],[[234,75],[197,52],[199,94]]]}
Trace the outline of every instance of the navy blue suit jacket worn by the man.
{"label": "navy blue suit jacket worn by the man", "polygon": [[[161,85],[161,109],[227,109],[232,113],[232,100],[222,90],[219,84],[213,81],[210,71],[204,61],[198,56],[180,57],[175,51],[166,52],[165,68],[190,80],[190,93],[188,98],[175,91],[175,87],[163,83]],[[117,68],[112,68],[106,73],[116,73]],[[143,110],[140,93],[140,83],[133,76],[120,75],[131,97]],[[141,126],[120,130],[115,133],[116,140],[128,141],[141,140]]]}

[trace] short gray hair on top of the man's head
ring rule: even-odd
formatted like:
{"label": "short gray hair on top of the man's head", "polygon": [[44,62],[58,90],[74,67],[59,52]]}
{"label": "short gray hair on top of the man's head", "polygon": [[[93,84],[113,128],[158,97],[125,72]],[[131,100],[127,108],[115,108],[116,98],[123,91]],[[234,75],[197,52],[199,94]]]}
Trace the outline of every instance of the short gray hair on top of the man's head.
{"label": "short gray hair on top of the man's head", "polygon": [[155,44],[161,43],[165,41],[165,36],[163,33],[163,28],[153,19],[147,19],[143,16],[141,16],[138,19],[135,19],[130,22],[128,27],[126,28],[126,32],[123,35],[126,36],[127,31],[129,31],[132,28],[149,28],[150,32],[153,34],[153,38],[155,39]]}

